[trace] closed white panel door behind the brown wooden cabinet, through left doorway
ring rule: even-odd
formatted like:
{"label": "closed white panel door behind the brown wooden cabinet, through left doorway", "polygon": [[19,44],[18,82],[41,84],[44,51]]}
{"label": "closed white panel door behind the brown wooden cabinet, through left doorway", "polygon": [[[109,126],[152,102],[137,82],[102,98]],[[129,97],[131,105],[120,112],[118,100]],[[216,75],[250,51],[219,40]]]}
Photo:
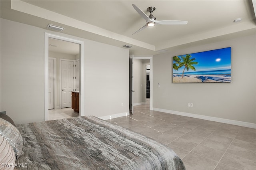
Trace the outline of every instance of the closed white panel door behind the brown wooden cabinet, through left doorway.
{"label": "closed white panel door behind the brown wooden cabinet, through left doorway", "polygon": [[74,62],[61,60],[61,108],[71,107],[74,90]]}

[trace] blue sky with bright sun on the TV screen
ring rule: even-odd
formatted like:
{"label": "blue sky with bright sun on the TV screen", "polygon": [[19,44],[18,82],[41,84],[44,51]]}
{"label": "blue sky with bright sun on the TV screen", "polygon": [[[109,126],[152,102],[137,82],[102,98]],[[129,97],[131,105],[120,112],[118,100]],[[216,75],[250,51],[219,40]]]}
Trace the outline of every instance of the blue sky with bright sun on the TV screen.
{"label": "blue sky with bright sun on the TV screen", "polygon": [[[214,49],[211,51],[204,51],[199,53],[191,53],[191,58],[196,58],[194,61],[198,62],[197,65],[193,65],[196,71],[214,71],[214,70],[226,70],[231,69],[231,47]],[[185,55],[178,55],[181,56]],[[184,69],[181,67],[178,71],[173,70],[174,73],[180,73]],[[185,72],[194,72],[189,70]]]}

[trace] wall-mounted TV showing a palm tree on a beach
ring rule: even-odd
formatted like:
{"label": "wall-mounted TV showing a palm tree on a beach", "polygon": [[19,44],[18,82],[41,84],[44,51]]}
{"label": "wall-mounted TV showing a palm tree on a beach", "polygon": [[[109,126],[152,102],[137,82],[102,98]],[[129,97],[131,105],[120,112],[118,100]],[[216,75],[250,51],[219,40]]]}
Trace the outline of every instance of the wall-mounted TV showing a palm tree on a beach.
{"label": "wall-mounted TV showing a palm tree on a beach", "polygon": [[173,83],[231,82],[231,47],[172,57]]}

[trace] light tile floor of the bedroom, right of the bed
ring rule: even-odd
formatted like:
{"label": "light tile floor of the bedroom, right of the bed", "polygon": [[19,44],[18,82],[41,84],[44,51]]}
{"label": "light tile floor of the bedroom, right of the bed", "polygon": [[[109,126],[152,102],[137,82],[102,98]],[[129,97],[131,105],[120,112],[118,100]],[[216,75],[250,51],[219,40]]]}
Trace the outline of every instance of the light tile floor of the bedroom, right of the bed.
{"label": "light tile floor of the bedroom, right of the bed", "polygon": [[256,129],[150,111],[108,120],[167,146],[187,170],[256,170]]}

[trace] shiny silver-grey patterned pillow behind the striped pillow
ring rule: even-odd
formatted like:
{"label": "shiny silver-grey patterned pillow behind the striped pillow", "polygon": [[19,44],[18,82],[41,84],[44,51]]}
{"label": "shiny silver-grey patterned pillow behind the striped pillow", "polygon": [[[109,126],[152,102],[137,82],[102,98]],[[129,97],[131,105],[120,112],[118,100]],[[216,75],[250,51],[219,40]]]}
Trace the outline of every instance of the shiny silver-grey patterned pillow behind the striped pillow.
{"label": "shiny silver-grey patterned pillow behind the striped pillow", "polygon": [[0,118],[0,136],[5,138],[7,142],[12,146],[16,159],[18,159],[22,153],[23,139],[19,130],[14,127],[10,122]]}

